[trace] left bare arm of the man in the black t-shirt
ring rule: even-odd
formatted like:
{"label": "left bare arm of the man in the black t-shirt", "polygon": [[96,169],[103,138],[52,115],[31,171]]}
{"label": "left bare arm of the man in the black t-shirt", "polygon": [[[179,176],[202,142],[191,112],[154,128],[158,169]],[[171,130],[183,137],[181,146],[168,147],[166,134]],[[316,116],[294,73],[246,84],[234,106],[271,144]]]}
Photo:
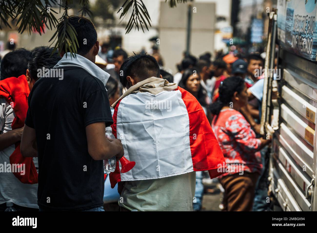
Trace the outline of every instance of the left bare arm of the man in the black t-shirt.
{"label": "left bare arm of the man in the black t-shirt", "polygon": [[37,150],[33,147],[36,140],[35,129],[24,125],[20,151],[24,157],[37,157]]}

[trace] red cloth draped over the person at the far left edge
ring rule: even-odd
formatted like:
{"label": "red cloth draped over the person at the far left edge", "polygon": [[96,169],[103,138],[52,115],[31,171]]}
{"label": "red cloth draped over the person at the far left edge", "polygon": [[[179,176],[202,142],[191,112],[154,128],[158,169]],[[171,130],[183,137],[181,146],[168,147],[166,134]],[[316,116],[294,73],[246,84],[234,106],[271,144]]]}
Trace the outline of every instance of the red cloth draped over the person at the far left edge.
{"label": "red cloth draped over the person at the far left edge", "polygon": [[[4,98],[12,106],[16,115],[11,125],[12,129],[24,126],[26,113],[29,108],[29,93],[29,85],[25,75],[21,75],[18,78],[11,77],[0,81],[0,98]],[[10,156],[10,164],[25,164],[25,174],[21,175],[20,172],[13,172],[13,174],[24,184],[36,184],[38,178],[33,158],[22,156],[20,152],[20,143],[21,142],[19,141],[15,144],[16,149]]]}

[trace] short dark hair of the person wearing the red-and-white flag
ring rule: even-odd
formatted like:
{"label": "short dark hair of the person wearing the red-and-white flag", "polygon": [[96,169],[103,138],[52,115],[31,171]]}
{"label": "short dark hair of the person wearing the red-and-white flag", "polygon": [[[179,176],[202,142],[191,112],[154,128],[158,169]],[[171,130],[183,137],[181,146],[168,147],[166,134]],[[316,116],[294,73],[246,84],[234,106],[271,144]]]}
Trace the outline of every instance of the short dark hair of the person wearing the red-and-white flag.
{"label": "short dark hair of the person wearing the red-and-white flag", "polygon": [[133,56],[128,57],[120,68],[123,71],[123,76],[120,75],[120,83],[122,87],[126,87],[128,81],[127,76],[136,76],[138,79],[145,80],[151,77],[160,76],[159,63],[154,57],[146,53],[134,53]]}

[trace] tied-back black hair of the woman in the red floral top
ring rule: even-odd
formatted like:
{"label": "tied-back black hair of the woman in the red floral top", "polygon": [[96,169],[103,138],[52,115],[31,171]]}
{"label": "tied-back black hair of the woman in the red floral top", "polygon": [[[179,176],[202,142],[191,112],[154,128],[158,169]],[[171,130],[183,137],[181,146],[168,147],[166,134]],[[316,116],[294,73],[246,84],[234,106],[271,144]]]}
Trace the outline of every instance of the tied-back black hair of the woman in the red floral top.
{"label": "tied-back black hair of the woman in the red floral top", "polygon": [[210,112],[218,115],[223,106],[228,105],[232,101],[233,94],[240,94],[244,89],[245,82],[239,76],[230,76],[222,81],[219,86],[219,97],[216,102],[210,105]]}

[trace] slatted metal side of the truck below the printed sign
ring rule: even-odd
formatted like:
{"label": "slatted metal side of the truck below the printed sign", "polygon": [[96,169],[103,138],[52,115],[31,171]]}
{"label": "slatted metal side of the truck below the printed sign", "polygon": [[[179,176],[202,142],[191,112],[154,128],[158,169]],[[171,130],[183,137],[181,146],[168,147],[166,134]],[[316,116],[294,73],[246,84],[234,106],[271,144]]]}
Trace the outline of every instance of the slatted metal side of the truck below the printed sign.
{"label": "slatted metal side of the truck below the printed sign", "polygon": [[[316,210],[317,196],[311,182],[316,173],[317,65],[283,49],[280,58],[279,67],[283,68],[283,79],[278,81],[280,119],[273,136],[270,176],[279,176],[301,210]],[[276,182],[275,178],[275,186]],[[285,195],[281,196],[283,199],[279,193],[275,195],[279,202],[286,202]],[[289,209],[298,211],[296,204]]]}

